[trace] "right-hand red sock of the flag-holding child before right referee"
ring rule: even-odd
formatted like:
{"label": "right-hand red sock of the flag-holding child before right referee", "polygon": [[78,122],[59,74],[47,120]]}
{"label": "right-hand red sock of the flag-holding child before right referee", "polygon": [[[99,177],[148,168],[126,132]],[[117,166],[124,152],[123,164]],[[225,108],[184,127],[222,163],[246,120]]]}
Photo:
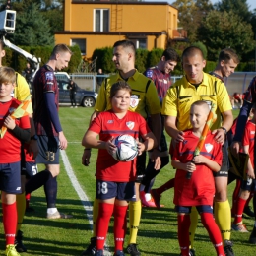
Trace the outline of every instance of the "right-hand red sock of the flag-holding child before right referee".
{"label": "right-hand red sock of the flag-holding child before right referee", "polygon": [[217,255],[224,256],[225,254],[224,254],[223,238],[221,235],[221,231],[214,220],[213,214],[202,213],[201,222],[209,233],[209,237],[215,246]]}

